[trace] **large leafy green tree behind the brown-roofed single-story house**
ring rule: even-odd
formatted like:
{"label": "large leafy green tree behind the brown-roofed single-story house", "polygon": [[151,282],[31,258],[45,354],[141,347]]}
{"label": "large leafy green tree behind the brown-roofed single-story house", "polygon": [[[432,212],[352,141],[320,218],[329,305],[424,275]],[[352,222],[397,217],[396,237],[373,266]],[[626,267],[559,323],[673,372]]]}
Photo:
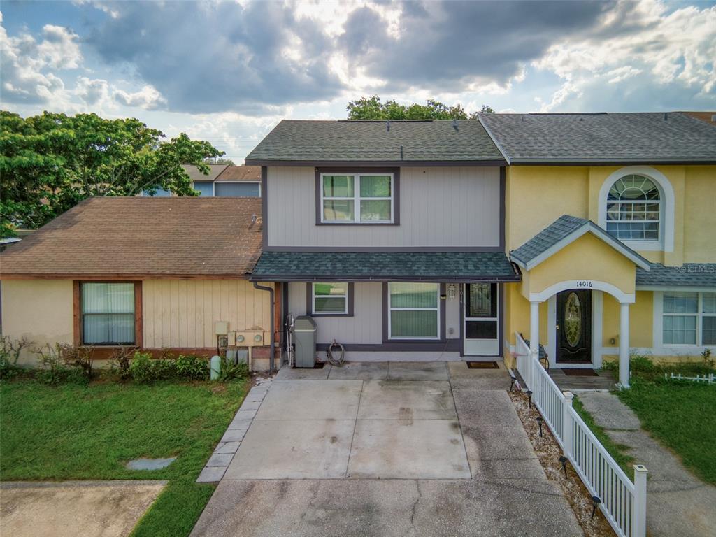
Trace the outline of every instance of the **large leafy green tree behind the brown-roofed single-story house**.
{"label": "large leafy green tree behind the brown-roofed single-story house", "polygon": [[0,236],[39,228],[90,196],[197,195],[182,164],[208,173],[205,160],[223,153],[184,133],[164,138],[135,119],[1,110]]}

